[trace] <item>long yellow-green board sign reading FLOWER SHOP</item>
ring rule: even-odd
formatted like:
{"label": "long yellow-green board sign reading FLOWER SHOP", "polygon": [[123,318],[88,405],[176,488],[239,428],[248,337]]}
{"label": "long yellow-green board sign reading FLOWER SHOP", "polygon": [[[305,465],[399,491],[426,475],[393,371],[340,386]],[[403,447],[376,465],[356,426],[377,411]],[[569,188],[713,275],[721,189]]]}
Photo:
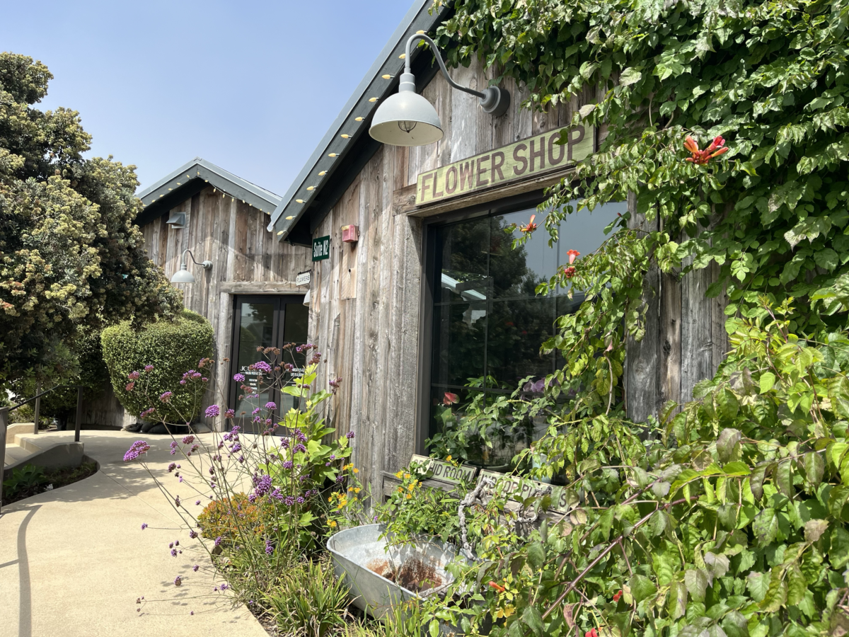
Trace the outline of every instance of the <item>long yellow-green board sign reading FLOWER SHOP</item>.
{"label": "long yellow-green board sign reading FLOWER SHOP", "polygon": [[[559,144],[560,139],[563,144]],[[537,177],[565,168],[593,153],[594,127],[543,132],[436,170],[419,173],[416,206]]]}

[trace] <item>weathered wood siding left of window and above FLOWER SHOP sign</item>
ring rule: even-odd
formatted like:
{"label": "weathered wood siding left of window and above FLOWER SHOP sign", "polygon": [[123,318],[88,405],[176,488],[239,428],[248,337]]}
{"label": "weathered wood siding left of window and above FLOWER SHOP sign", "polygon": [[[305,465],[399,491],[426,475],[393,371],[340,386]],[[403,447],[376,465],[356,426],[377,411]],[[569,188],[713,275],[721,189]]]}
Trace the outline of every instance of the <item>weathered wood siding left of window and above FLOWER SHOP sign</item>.
{"label": "weathered wood siding left of window and above FLOWER SHOP sign", "polygon": [[[476,64],[453,76],[470,87],[488,81]],[[406,465],[417,443],[423,222],[420,211],[398,213],[397,192],[415,184],[419,172],[565,126],[574,109],[592,101],[531,113],[519,108],[526,90],[510,80],[506,87],[510,110],[493,120],[477,99],[436,76],[423,94],[436,106],[444,137],[419,148],[384,146],[313,234],[331,238],[329,259],[312,269],[310,339],[326,361],[318,382],[342,378],[335,422],[340,433],[355,432],[353,461],[373,493],[380,493],[381,471]],[[342,243],[341,227],[349,223],[360,227],[357,244]]]}

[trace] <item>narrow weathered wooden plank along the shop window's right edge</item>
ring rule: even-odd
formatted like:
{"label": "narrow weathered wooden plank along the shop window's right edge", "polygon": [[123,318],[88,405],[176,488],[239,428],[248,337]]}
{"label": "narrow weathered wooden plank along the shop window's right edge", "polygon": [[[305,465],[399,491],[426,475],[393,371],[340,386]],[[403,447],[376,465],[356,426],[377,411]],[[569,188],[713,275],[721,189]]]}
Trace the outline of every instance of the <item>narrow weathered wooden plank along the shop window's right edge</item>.
{"label": "narrow weathered wooden plank along the shop window's right edge", "polygon": [[[638,214],[637,200],[628,194],[628,211],[631,218],[628,228],[652,232],[657,229],[657,219],[647,221]],[[625,405],[628,418],[644,422],[650,414],[657,413],[658,339],[660,337],[659,295],[660,272],[655,265],[649,268],[643,279],[643,304],[645,313],[645,335],[642,341],[627,336],[625,361]]]}

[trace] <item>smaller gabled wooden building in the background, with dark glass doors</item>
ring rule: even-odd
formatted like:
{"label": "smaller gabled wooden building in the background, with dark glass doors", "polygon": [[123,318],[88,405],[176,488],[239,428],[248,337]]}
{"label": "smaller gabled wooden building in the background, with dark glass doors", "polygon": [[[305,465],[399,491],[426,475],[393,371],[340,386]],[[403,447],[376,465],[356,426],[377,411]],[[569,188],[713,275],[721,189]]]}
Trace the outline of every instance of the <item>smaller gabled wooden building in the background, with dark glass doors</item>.
{"label": "smaller gabled wooden building in the background, with dark glass doors", "polygon": [[[194,261],[212,262],[205,270],[186,256],[194,274],[183,290],[185,307],[208,318],[215,331],[218,365],[207,403],[238,401],[233,373],[249,377],[247,365],[259,360],[256,346],[306,341],[305,285],[296,285],[310,268],[310,251],[282,243],[267,229],[281,198],[196,157],[138,193],[144,204],[136,219],[150,259],[171,276],[183,252]],[[222,373],[226,370],[226,374]],[[269,397],[277,399],[279,397]],[[123,426],[131,419],[112,392],[93,403],[87,422]],[[221,427],[221,419],[210,421]]]}

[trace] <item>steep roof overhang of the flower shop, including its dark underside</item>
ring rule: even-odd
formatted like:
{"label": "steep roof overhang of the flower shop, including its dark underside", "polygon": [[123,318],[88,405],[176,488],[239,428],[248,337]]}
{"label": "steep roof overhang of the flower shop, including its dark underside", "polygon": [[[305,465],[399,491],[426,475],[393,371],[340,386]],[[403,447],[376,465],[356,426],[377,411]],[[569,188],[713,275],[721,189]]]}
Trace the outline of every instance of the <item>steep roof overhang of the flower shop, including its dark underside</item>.
{"label": "steep roof overhang of the flower shop, including its dark underside", "polygon": [[[273,211],[268,229],[278,239],[308,245],[312,230],[380,149],[380,143],[368,136],[374,110],[380,100],[397,91],[408,37],[416,31],[432,31],[446,20],[452,11],[447,4],[430,14],[433,0],[413,0],[413,7]],[[414,48],[411,58],[420,91],[438,67],[430,49]]]}

